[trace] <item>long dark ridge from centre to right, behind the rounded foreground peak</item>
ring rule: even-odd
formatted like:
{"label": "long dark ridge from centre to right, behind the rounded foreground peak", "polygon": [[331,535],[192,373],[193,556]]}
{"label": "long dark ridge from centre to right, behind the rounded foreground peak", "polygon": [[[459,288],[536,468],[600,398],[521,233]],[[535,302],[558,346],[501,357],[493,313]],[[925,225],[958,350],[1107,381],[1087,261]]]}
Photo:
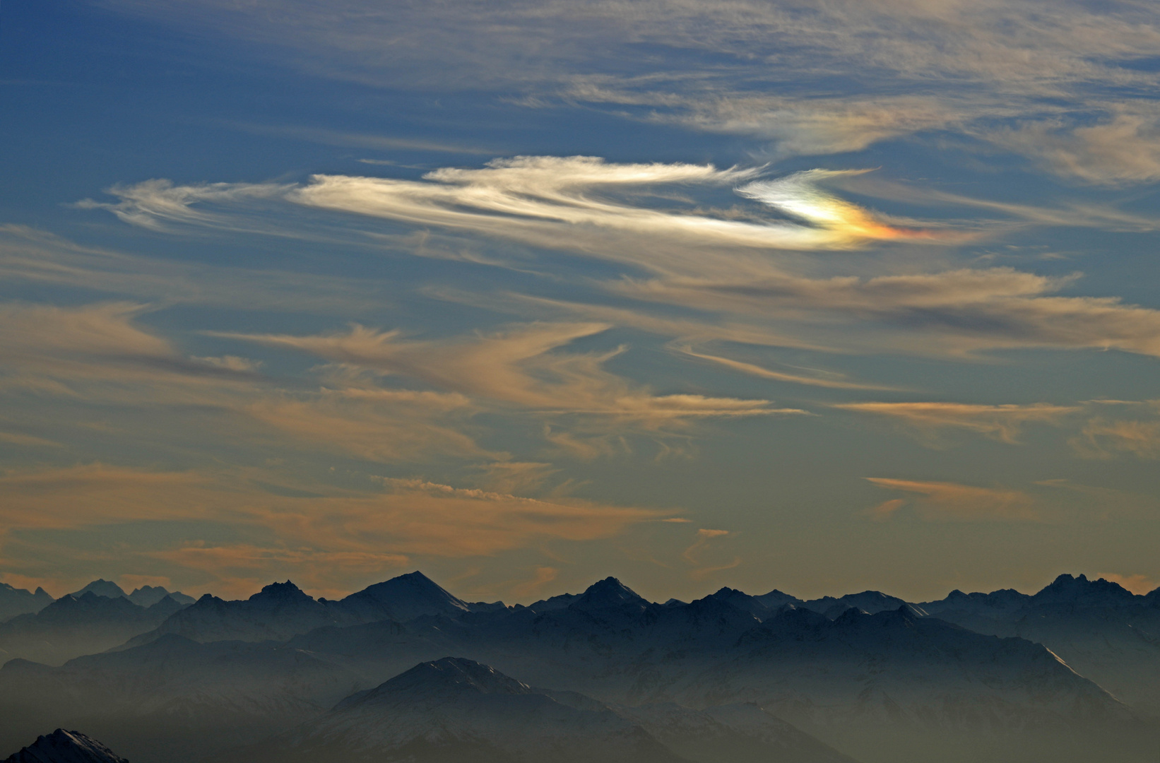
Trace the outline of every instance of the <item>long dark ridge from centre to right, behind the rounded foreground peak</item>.
{"label": "long dark ridge from centre to right, behind the rounded foreground peak", "polygon": [[[1104,744],[1093,728],[1136,733],[1115,697],[1023,639],[973,633],[905,603],[833,620],[789,605],[761,620],[731,598],[651,604],[604,580],[564,608],[324,628],[291,644],[367,676],[442,652],[602,702],[756,702],[871,761],[1086,761]],[[1018,747],[1024,737],[1031,751]],[[1122,761],[1148,760],[1131,744]]]}

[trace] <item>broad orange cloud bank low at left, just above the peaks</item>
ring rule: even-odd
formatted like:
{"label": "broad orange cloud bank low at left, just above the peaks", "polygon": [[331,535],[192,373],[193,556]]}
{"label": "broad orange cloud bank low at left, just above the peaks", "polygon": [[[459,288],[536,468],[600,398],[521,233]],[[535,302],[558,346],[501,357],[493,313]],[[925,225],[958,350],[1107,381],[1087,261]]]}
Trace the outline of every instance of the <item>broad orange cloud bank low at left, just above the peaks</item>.
{"label": "broad orange cloud bank low at left, just above the peaks", "polygon": [[[28,533],[95,530],[152,523],[150,536],[119,536],[116,561],[128,567],[92,574],[136,574],[142,560],[167,562],[158,574],[172,580],[213,580],[210,588],[242,593],[255,581],[293,574],[316,590],[335,591],[351,580],[394,568],[414,557],[488,558],[538,547],[549,540],[592,542],[615,537],[629,526],[665,515],[580,499],[530,499],[478,488],[457,488],[422,479],[382,478],[382,490],[335,490],[300,497],[274,494],[233,472],[145,472],[93,464],[0,475],[0,560],[6,574],[24,574],[29,564],[13,548]],[[171,525],[173,531],[161,532]],[[211,542],[229,528],[237,540]],[[155,537],[184,538],[158,547]],[[204,533],[204,535],[203,535]],[[59,536],[41,558],[60,557],[84,538]],[[72,564],[72,562],[70,562]],[[155,567],[155,565],[151,565]]]}

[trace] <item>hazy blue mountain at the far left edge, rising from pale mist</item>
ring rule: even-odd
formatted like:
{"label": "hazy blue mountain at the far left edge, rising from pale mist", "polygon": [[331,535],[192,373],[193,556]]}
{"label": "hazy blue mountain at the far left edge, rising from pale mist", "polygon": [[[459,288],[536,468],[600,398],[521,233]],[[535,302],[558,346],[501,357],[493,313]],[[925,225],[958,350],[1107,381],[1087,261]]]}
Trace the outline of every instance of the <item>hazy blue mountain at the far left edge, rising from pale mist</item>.
{"label": "hazy blue mountain at the far left edge, rising from pale mist", "polygon": [[60,664],[82,654],[93,654],[124,644],[151,631],[181,609],[173,598],[150,608],[128,598],[61,596],[35,615],[21,615],[0,624],[0,661],[22,657]]}

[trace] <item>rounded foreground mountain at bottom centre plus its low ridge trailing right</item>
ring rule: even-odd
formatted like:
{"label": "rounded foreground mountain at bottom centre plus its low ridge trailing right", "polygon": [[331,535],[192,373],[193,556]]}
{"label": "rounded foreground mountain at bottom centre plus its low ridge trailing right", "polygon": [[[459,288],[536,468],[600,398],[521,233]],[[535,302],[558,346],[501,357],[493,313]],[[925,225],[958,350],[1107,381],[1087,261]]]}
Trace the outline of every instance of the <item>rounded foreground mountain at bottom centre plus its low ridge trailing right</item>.
{"label": "rounded foreground mountain at bottom centre plus its low ridge trailing right", "polygon": [[[725,711],[723,717],[739,714]],[[738,725],[746,721],[752,725],[749,718]],[[788,724],[768,721],[756,733],[745,733],[675,705],[616,708],[574,692],[532,689],[472,660],[443,657],[343,699],[303,729],[226,760],[853,763]]]}

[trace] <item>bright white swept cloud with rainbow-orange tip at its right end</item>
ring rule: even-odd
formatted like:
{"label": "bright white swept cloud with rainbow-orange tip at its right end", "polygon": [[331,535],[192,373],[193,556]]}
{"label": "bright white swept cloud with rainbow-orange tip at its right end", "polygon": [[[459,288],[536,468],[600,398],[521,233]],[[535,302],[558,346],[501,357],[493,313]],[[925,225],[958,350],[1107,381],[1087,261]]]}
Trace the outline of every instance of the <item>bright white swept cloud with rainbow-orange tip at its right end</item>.
{"label": "bright white swept cloud with rainbow-orange tip at its right end", "polygon": [[[891,225],[821,189],[821,182],[848,173],[814,169],[755,181],[759,173],[757,168],[717,169],[712,165],[610,164],[597,157],[515,157],[494,159],[483,168],[436,169],[421,181],[314,175],[302,186],[173,186],[151,180],[109,189],[122,199],[117,204],[86,201],[82,205],[108,209],[126,223],[157,230],[180,223],[258,231],[256,223],[244,224],[234,215],[205,208],[230,209],[280,198],[332,212],[565,247],[589,256],[623,261],[629,249],[635,262],[653,268],[664,267],[673,256],[650,255],[659,245],[820,250],[857,249],[873,241],[963,240],[960,233]],[[738,188],[738,194],[766,208],[749,208],[748,219],[689,209],[688,204],[676,209],[640,204],[652,196],[672,208],[673,189],[744,182],[747,184]],[[667,189],[667,196],[658,189]],[[636,203],[618,198],[624,195],[632,195]],[[769,210],[800,221],[778,218]],[[641,252],[639,245],[645,242],[648,248]]]}

